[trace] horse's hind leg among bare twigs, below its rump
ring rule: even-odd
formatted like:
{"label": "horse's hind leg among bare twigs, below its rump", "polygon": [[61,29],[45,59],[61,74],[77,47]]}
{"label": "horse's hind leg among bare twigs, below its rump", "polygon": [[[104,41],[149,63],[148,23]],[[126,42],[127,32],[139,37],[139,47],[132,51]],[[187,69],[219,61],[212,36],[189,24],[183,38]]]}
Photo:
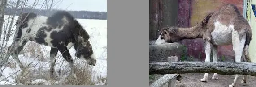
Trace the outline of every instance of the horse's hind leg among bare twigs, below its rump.
{"label": "horse's hind leg among bare twigs, below its rump", "polygon": [[[19,43],[21,42],[21,43]],[[24,66],[22,65],[21,61],[18,58],[19,53],[22,51],[24,45],[27,43],[26,40],[23,41],[13,41],[13,44],[11,46],[8,47],[8,52],[11,53],[11,56],[14,58],[14,60],[18,63],[18,65],[20,66],[20,68],[24,69]],[[9,58],[9,56],[7,56],[7,58]]]}

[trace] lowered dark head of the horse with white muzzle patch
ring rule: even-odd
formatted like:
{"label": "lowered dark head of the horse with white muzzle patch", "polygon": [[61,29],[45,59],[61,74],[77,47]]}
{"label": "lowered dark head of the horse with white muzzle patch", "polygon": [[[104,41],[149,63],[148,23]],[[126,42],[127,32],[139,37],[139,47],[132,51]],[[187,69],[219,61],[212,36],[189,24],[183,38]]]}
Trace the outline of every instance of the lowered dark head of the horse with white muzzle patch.
{"label": "lowered dark head of the horse with white muzzle patch", "polygon": [[87,60],[89,65],[95,66],[96,64],[96,58],[93,54],[90,42],[83,39],[81,36],[78,36],[76,57]]}

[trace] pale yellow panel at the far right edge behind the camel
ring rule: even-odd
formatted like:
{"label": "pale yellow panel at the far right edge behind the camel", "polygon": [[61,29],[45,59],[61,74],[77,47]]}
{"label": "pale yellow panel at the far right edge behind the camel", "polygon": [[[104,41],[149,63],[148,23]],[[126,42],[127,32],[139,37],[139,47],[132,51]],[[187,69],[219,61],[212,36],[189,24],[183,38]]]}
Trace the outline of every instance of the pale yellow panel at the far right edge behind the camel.
{"label": "pale yellow panel at the far right edge behind the camel", "polygon": [[[251,0],[252,4],[256,4],[256,0]],[[249,46],[249,54],[250,58],[252,59],[252,62],[256,62],[256,18],[254,16],[254,13],[252,11],[251,4],[249,5],[251,9],[250,14],[250,25],[252,28],[252,41],[250,42]]]}

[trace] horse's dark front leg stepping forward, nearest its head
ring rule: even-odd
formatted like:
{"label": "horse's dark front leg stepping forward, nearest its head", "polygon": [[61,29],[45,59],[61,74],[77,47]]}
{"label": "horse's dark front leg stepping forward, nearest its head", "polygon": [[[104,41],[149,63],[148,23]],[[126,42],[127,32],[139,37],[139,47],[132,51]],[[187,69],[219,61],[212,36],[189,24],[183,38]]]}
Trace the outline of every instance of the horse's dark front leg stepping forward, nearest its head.
{"label": "horse's dark front leg stepping forward, nearest its head", "polygon": [[73,59],[69,53],[69,50],[67,49],[67,47],[65,46],[61,46],[61,47],[58,47],[58,50],[61,52],[63,58],[69,62],[69,66],[71,68],[71,72],[70,74],[74,76],[75,79],[77,79],[77,76],[74,72],[74,62],[73,62]]}

